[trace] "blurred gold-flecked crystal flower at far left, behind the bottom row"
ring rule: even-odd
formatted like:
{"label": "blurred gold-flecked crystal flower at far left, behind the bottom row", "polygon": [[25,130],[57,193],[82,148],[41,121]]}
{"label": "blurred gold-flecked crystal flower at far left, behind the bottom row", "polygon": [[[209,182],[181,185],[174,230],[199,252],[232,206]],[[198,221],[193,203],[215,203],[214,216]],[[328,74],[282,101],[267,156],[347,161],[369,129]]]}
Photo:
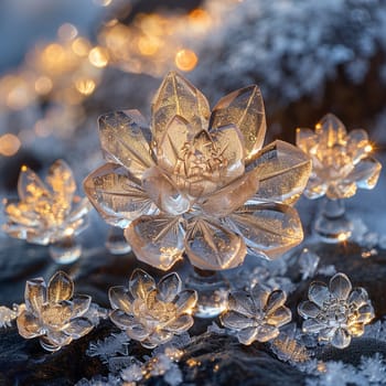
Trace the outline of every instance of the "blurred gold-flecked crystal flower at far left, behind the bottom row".
{"label": "blurred gold-flecked crystal flower at far left, behind the bottom row", "polygon": [[3,230],[30,243],[47,245],[79,234],[86,227],[87,199],[75,195],[71,168],[62,160],[52,164],[46,184],[28,167],[18,182],[18,202],[6,203]]}

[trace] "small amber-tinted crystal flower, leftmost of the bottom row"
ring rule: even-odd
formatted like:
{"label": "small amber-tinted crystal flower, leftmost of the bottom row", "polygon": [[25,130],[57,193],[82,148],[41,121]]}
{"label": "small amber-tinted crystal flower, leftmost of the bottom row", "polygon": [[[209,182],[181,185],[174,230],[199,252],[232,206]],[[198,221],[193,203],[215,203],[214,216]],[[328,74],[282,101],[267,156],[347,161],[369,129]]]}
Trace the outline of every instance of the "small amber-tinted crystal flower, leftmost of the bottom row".
{"label": "small amber-tinted crystal flower, leftmost of the bottom row", "polygon": [[92,298],[74,296],[74,282],[63,271],[56,272],[46,286],[42,278],[28,280],[25,303],[17,319],[19,333],[25,339],[40,336],[47,351],[57,351],[86,335],[93,323],[87,319]]}

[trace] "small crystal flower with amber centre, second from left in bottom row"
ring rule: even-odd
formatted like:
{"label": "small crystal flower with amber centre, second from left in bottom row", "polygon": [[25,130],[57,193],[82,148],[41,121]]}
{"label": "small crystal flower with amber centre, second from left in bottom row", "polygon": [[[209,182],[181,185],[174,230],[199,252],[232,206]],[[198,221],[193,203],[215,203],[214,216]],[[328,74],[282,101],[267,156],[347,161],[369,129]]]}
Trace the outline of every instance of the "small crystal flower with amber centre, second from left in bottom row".
{"label": "small crystal flower with amber centre, second from left in bottom row", "polygon": [[111,321],[129,337],[153,349],[180,335],[193,325],[191,313],[197,302],[194,290],[181,290],[178,274],[159,281],[141,269],[136,269],[129,288],[111,287],[108,297],[114,311]]}

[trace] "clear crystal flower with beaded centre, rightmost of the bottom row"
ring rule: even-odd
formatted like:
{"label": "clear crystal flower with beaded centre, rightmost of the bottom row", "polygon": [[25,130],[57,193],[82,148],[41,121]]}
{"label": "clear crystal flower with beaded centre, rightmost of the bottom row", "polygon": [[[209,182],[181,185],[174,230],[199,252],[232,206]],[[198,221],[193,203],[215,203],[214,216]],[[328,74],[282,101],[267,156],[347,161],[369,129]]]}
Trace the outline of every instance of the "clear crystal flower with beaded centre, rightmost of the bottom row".
{"label": "clear crystal flower with beaded centre, rightmost of the bottom row", "polygon": [[314,281],[309,288],[309,301],[298,307],[305,319],[303,332],[317,333],[337,349],[347,347],[352,336],[361,336],[365,324],[374,318],[374,309],[365,289],[352,289],[344,274],[334,275],[329,287]]}

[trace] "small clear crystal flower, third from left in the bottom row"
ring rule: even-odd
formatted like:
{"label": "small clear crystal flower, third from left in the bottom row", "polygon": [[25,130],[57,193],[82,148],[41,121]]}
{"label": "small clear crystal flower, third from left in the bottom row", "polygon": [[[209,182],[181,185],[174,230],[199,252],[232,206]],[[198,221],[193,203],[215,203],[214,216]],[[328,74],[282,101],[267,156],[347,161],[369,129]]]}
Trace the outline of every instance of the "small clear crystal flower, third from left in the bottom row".
{"label": "small clear crystal flower, third from left in the bottom row", "polygon": [[236,331],[243,344],[268,342],[279,335],[279,328],[291,321],[291,311],[285,305],[287,294],[269,291],[256,285],[250,293],[229,293],[228,310],[221,317],[224,326]]}

